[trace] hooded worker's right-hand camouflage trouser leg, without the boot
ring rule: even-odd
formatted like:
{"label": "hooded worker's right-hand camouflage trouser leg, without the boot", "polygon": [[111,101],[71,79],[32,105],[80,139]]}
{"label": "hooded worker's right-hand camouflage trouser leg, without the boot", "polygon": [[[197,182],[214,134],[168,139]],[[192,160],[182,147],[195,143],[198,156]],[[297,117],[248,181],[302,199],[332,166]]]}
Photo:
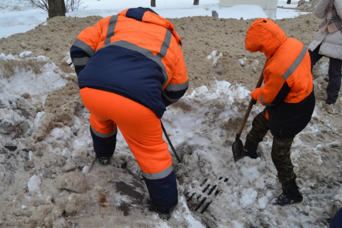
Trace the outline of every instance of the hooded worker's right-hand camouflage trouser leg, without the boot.
{"label": "hooded worker's right-hand camouflage trouser leg, without the boot", "polygon": [[281,183],[289,184],[296,180],[290,157],[290,147],[294,138],[279,139],[273,136],[271,157],[278,171],[278,179]]}

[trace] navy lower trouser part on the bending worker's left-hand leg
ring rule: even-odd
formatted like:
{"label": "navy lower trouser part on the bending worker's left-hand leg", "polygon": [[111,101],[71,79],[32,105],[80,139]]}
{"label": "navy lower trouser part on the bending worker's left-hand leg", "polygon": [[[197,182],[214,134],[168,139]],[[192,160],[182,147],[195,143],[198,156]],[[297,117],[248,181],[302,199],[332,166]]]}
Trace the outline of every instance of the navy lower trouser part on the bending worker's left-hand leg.
{"label": "navy lower trouser part on the bending worker's left-hand leg", "polygon": [[99,159],[110,159],[114,154],[116,146],[117,128],[110,134],[101,134],[90,126],[90,134],[97,157]]}

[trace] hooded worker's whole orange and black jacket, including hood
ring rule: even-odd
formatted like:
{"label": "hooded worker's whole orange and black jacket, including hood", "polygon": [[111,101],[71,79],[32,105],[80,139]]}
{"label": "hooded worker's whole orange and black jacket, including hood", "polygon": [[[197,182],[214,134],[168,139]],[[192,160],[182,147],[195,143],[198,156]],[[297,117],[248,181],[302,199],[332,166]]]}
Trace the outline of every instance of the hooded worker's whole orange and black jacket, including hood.
{"label": "hooded worker's whole orange and black jacket, including hood", "polygon": [[250,25],[245,47],[251,52],[264,53],[268,59],[263,72],[264,85],[252,91],[252,98],[266,106],[272,134],[279,138],[294,137],[308,124],[315,107],[306,47],[294,38],[287,38],[275,22],[263,18]]}

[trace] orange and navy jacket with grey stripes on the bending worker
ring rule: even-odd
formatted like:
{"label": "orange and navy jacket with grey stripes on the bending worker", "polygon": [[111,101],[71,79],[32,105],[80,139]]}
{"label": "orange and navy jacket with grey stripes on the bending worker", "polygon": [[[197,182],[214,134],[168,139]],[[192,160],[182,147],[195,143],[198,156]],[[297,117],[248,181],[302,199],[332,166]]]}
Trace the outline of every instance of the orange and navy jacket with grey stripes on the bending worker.
{"label": "orange and navy jacket with grey stripes on the bending worker", "polygon": [[80,88],[120,94],[161,118],[188,88],[181,44],[170,21],[131,8],[84,29],[70,56]]}

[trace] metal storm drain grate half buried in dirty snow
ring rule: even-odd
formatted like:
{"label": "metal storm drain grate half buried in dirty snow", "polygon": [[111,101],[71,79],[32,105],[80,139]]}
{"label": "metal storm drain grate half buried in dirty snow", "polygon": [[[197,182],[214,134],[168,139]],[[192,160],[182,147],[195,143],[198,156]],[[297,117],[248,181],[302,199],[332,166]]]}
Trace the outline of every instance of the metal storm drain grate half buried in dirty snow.
{"label": "metal storm drain grate half buried in dirty snow", "polygon": [[[223,177],[220,177],[218,180],[220,182],[227,182],[228,178],[223,179]],[[204,179],[199,185],[201,188],[201,193],[186,191],[184,194],[190,208],[192,208],[194,211],[199,211],[201,214],[206,211],[216,195],[219,193],[219,188],[217,185],[211,185],[207,182],[208,179]]]}

